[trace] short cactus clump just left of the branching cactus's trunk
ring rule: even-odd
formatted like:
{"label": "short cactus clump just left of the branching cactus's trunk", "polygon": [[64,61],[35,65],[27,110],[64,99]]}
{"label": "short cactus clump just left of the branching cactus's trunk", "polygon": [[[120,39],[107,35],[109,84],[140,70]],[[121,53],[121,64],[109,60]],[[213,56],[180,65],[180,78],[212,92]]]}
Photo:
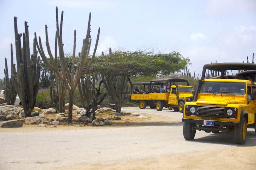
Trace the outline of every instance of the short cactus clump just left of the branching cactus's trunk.
{"label": "short cactus clump just left of the branching cactus's trunk", "polygon": [[53,75],[51,71],[51,86],[50,86],[50,96],[53,107],[63,113],[64,105],[65,105],[65,93],[67,88],[65,87],[63,81],[61,81],[58,77],[56,77],[56,86],[54,84]]}

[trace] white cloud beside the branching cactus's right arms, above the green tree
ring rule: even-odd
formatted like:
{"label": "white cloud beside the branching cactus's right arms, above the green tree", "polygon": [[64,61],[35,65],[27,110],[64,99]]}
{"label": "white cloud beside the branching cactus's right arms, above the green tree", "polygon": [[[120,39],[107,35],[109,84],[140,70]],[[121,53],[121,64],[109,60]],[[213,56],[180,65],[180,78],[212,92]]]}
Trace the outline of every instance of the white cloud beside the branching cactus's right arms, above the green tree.
{"label": "white cloud beside the branching cactus's right arms, above the green tree", "polygon": [[97,48],[97,54],[101,54],[102,51],[104,52],[104,54],[105,53],[108,54],[109,47],[111,47],[112,50],[117,47],[117,43],[113,39],[113,37],[106,36],[106,37],[101,38],[99,46]]}

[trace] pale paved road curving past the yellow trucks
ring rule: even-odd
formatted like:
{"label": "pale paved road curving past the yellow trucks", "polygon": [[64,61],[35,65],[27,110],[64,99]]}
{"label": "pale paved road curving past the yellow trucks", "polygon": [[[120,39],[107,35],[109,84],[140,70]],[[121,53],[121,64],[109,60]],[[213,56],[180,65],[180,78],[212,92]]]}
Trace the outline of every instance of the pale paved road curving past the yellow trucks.
{"label": "pale paved road curving past the yellow trucks", "polygon": [[[154,110],[148,113],[151,112]],[[164,111],[156,110],[155,113],[165,114]],[[181,114],[166,111],[166,114],[170,113]],[[53,169],[228,147],[256,146],[256,136],[252,128],[248,129],[246,145],[236,146],[233,134],[226,133],[197,131],[194,140],[186,141],[183,138],[182,123],[164,126],[85,127],[81,130],[48,132],[0,131],[0,139],[1,170]]]}

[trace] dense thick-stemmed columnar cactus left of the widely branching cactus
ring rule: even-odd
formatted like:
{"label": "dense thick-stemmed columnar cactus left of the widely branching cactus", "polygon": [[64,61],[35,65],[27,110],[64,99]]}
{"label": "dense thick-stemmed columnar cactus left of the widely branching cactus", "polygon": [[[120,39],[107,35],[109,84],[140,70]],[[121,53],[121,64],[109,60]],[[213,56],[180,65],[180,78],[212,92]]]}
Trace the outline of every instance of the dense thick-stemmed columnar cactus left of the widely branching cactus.
{"label": "dense thick-stemmed columnar cactus left of the widely branching cactus", "polygon": [[[17,71],[13,64],[14,87],[20,97],[26,117],[31,116],[31,110],[36,103],[39,89],[40,57],[37,57],[35,39],[33,43],[33,54],[30,56],[28,23],[25,21],[25,33],[18,33],[17,17],[14,17],[15,48],[17,59]],[[21,37],[23,41],[21,41]],[[23,43],[23,47],[22,44]]]}

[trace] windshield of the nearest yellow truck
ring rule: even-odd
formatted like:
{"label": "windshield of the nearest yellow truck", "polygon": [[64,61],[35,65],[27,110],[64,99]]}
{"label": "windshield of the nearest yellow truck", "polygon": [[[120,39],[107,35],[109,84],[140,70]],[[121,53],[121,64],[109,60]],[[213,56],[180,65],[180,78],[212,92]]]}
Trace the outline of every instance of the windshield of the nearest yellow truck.
{"label": "windshield of the nearest yellow truck", "polygon": [[245,95],[245,83],[240,82],[202,82],[199,93]]}

